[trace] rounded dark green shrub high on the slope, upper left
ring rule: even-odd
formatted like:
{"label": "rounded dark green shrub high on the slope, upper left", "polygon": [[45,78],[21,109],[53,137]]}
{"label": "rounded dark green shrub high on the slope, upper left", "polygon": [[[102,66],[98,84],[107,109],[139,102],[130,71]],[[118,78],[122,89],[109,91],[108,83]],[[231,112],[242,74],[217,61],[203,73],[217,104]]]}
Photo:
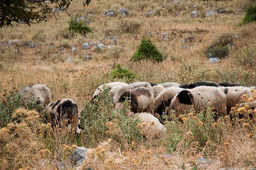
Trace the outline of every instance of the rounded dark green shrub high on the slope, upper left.
{"label": "rounded dark green shrub high on the slope, upper left", "polygon": [[88,33],[93,33],[87,25],[83,24],[81,21],[78,22],[73,19],[70,21],[68,29],[71,33],[77,32],[84,36]]}

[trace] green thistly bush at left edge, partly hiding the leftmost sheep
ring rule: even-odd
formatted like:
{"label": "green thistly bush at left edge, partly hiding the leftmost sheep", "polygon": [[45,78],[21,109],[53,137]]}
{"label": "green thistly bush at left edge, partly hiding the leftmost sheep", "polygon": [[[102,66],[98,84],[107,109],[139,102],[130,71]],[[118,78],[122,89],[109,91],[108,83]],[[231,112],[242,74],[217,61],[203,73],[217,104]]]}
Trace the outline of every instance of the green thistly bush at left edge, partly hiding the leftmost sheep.
{"label": "green thistly bush at left edge, partly hiding the leftmost sheep", "polygon": [[[19,118],[12,118],[12,113],[15,112],[16,109],[24,107],[21,98],[21,94],[15,94],[15,92],[11,92],[11,94],[4,94],[5,97],[3,101],[0,103],[0,127],[5,127],[11,121],[17,121]],[[35,109],[37,112],[41,114],[41,118],[44,119],[45,112],[44,106],[42,104],[36,104],[35,98],[31,100],[26,100],[25,108],[28,110]]]}

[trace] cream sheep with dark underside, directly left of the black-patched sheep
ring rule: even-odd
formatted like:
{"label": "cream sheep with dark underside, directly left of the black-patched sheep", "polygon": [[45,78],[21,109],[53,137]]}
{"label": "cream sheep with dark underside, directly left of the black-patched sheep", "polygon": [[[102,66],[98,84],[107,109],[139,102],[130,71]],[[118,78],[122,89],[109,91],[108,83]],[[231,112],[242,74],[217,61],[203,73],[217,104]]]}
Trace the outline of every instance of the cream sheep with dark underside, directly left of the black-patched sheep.
{"label": "cream sheep with dark underside, directly left of the black-patched sheep", "polygon": [[172,99],[181,90],[183,89],[180,87],[169,87],[160,92],[153,102],[154,114],[157,113],[160,117],[162,117],[166,107],[171,104]]}

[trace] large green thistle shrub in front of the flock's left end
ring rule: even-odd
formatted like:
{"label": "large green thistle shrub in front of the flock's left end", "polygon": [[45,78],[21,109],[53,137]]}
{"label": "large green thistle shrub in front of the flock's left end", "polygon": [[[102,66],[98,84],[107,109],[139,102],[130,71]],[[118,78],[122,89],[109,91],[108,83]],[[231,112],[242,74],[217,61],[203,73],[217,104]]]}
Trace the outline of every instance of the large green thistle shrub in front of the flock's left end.
{"label": "large green thistle shrub in front of the flock's left end", "polygon": [[[113,139],[122,149],[132,148],[132,142],[139,144],[142,141],[140,118],[128,116],[128,105],[115,109],[112,98],[105,89],[102,99],[95,98],[93,102],[87,101],[81,110],[81,127],[83,129],[80,138],[86,139],[85,147],[96,147],[100,141]],[[93,104],[92,104],[93,103]]]}

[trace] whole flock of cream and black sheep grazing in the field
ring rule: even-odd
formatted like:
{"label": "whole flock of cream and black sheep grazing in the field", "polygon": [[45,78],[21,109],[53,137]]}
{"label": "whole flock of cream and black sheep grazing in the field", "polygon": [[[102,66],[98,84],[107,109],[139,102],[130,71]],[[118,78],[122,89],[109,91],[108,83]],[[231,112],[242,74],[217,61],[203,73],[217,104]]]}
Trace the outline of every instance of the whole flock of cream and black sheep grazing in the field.
{"label": "whole flock of cream and black sheep grazing in the field", "polygon": [[[113,99],[114,107],[122,107],[124,102],[129,102],[130,111],[137,113],[141,122],[145,123],[145,136],[157,138],[165,127],[162,122],[164,115],[186,114],[187,110],[200,112],[206,109],[207,103],[212,104],[212,111],[218,117],[229,114],[232,107],[241,103],[242,95],[251,97],[255,87],[244,87],[240,84],[223,83],[216,84],[210,81],[201,81],[191,84],[163,83],[154,84],[148,82],[135,82],[126,84],[123,82],[111,82],[99,86],[93,94],[93,98],[102,99],[103,92],[108,93]],[[71,99],[62,99],[53,102],[51,92],[47,86],[37,84],[25,86],[18,93],[23,99],[34,97],[37,103],[45,104],[46,120],[52,126],[58,125],[64,119],[68,119],[72,127],[79,130],[79,115],[76,103]],[[251,108],[256,107],[256,101],[248,103]],[[175,110],[173,113],[172,111]]]}

